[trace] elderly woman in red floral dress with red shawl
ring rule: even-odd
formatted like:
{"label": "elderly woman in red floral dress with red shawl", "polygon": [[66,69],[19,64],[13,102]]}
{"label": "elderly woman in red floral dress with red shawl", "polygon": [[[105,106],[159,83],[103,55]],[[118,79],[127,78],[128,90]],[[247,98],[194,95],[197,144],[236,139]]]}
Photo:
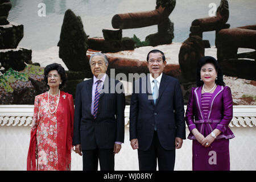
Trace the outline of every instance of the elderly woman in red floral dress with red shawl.
{"label": "elderly woman in red floral dress with red shawl", "polygon": [[47,65],[44,80],[49,91],[35,97],[27,170],[70,170],[74,105],[59,89],[67,80],[64,68]]}

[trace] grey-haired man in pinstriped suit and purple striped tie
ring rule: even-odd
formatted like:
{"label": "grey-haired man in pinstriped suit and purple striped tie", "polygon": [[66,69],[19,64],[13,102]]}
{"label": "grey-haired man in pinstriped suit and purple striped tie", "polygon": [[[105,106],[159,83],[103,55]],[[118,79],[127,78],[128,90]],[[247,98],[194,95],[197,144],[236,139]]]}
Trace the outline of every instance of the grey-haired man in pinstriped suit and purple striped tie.
{"label": "grey-haired man in pinstriped suit and purple striped tie", "polygon": [[121,82],[106,75],[104,54],[94,53],[89,63],[93,78],[76,88],[73,145],[83,170],[97,171],[99,160],[101,170],[112,171],[125,137],[125,94]]}

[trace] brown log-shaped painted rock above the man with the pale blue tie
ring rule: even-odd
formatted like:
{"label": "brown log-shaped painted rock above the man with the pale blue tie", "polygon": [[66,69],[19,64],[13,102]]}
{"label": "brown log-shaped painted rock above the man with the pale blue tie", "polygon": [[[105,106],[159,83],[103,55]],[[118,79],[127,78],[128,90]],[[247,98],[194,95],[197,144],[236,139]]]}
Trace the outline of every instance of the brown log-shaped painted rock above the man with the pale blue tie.
{"label": "brown log-shaped painted rock above the man with the pale blue tie", "polygon": [[113,28],[141,28],[157,24],[158,32],[148,35],[149,46],[171,44],[174,39],[174,23],[168,18],[174,10],[176,0],[157,0],[155,10],[138,13],[116,14],[112,18]]}

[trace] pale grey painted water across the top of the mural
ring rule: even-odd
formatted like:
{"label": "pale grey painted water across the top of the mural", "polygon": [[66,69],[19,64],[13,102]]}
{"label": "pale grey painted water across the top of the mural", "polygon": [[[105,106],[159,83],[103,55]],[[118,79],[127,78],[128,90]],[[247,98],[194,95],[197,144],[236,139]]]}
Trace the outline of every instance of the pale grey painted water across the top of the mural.
{"label": "pale grey painted water across the top of the mural", "polygon": [[[232,0],[229,2],[230,27],[255,24],[256,3],[254,0]],[[9,20],[24,24],[24,38],[19,46],[32,50],[47,49],[59,42],[63,16],[67,9],[71,9],[77,16],[81,16],[86,34],[102,36],[103,28],[113,28],[112,18],[119,13],[133,13],[154,10],[156,0],[11,0],[13,5],[9,13]],[[46,16],[38,16],[39,3],[45,3]],[[209,16],[214,3],[217,7],[219,0],[186,0],[176,1],[175,9],[170,15],[174,22],[173,42],[184,42],[189,35],[191,22],[196,18]],[[133,37],[135,34],[141,40],[157,31],[157,26],[133,28],[123,30],[123,36]],[[205,32],[206,39],[214,46],[215,33]]]}

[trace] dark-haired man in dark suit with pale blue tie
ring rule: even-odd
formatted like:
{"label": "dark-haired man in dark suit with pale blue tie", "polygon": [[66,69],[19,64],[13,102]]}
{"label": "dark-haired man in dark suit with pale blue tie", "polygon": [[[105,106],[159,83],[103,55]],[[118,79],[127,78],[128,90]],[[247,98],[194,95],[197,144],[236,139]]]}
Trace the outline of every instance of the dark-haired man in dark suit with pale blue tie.
{"label": "dark-haired man in dark suit with pale blue tie", "polygon": [[174,170],[175,148],[185,139],[183,95],[179,81],[164,75],[166,58],[154,49],[147,55],[150,74],[135,80],[130,104],[130,141],[138,149],[139,169]]}

